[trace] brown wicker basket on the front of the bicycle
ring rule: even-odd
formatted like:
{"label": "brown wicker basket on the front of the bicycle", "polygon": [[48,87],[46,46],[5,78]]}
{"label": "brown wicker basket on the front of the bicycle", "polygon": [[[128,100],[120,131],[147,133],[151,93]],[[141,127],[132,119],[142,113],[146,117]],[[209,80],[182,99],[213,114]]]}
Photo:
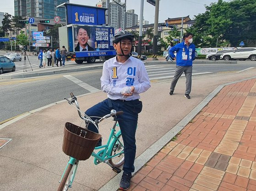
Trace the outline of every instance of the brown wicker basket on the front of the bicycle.
{"label": "brown wicker basket on the front of the bicycle", "polygon": [[101,135],[66,122],[62,150],[78,160],[89,159]]}

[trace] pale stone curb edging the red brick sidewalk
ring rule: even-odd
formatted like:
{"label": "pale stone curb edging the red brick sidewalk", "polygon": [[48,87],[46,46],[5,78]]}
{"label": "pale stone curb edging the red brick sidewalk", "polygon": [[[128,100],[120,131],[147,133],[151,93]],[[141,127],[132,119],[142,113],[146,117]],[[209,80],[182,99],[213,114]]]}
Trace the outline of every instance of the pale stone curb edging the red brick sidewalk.
{"label": "pale stone curb edging the red brick sidewalk", "polygon": [[[213,90],[208,96],[206,96],[189,114],[187,114],[180,122],[178,122],[169,132],[165,133],[163,137],[159,138],[153,145],[151,145],[147,150],[145,150],[140,156],[135,159],[134,166],[135,171],[134,174],[140,170],[150,159],[153,158],[155,154],[157,154],[167,143],[170,142],[172,138],[176,134],[178,134],[203,108],[206,106],[214,96],[218,94],[220,90],[226,85],[231,85],[235,83],[239,83],[245,80],[251,80],[256,78],[256,76],[246,78],[243,80],[237,80],[229,83],[225,83],[223,85],[219,85],[215,90]],[[99,191],[109,191],[113,190],[113,188],[117,188],[118,183],[120,182],[122,173],[114,176],[107,184],[102,186]],[[118,189],[118,188],[117,188]],[[115,190],[115,189],[114,189]]]}

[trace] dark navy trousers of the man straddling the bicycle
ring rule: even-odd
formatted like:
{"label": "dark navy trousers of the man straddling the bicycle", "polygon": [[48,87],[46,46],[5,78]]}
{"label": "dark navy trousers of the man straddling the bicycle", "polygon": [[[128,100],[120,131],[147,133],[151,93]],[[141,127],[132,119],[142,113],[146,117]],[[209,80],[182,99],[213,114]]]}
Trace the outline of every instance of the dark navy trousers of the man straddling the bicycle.
{"label": "dark navy trousers of the man straddling the bicycle", "polygon": [[[134,172],[134,160],[136,155],[136,127],[138,122],[138,114],[142,111],[142,101],[122,101],[106,99],[95,106],[88,109],[85,113],[87,116],[103,117],[114,109],[116,111],[124,111],[124,114],[117,116],[124,141],[125,164],[123,170],[127,173]],[[92,117],[94,121],[97,118]],[[93,124],[89,124],[90,131],[98,133],[97,128]]]}

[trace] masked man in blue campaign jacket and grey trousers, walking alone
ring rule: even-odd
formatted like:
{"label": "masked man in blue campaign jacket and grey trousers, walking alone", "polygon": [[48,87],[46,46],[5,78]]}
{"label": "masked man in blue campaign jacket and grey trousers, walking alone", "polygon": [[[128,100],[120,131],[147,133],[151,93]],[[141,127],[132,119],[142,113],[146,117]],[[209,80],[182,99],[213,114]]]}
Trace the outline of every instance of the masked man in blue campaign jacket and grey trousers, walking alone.
{"label": "masked man in blue campaign jacket and grey trousers, walking alone", "polygon": [[[186,77],[186,90],[185,90],[185,98],[190,99],[189,96],[191,92],[191,84],[192,84],[192,61],[195,59],[195,51],[196,47],[193,42],[193,35],[191,33],[185,33],[183,35],[183,42],[176,44],[174,47],[169,49],[169,54],[176,61],[176,69],[175,74],[171,83],[170,93],[172,96],[174,93],[174,88],[183,72]],[[174,55],[176,52],[176,56]]]}

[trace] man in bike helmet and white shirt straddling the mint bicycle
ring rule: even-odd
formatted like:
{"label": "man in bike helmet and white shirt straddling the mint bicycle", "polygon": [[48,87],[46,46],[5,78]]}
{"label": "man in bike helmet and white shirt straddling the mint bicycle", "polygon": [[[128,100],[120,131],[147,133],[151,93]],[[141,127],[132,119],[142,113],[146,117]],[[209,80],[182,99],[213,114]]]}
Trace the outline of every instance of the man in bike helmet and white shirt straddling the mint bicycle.
{"label": "man in bike helmet and white shirt straddling the mint bicycle", "polygon": [[[142,111],[139,94],[147,91],[151,86],[143,62],[131,57],[133,38],[134,36],[127,31],[119,31],[114,35],[113,44],[117,56],[104,62],[100,78],[101,89],[108,94],[108,99],[85,112],[87,116],[103,117],[109,114],[111,109],[124,111],[124,114],[117,116],[125,146],[121,190],[127,190],[130,187],[131,173],[135,170],[135,133],[138,113]],[[92,119],[96,118],[92,117]],[[97,128],[92,124],[88,129],[98,133]]]}

